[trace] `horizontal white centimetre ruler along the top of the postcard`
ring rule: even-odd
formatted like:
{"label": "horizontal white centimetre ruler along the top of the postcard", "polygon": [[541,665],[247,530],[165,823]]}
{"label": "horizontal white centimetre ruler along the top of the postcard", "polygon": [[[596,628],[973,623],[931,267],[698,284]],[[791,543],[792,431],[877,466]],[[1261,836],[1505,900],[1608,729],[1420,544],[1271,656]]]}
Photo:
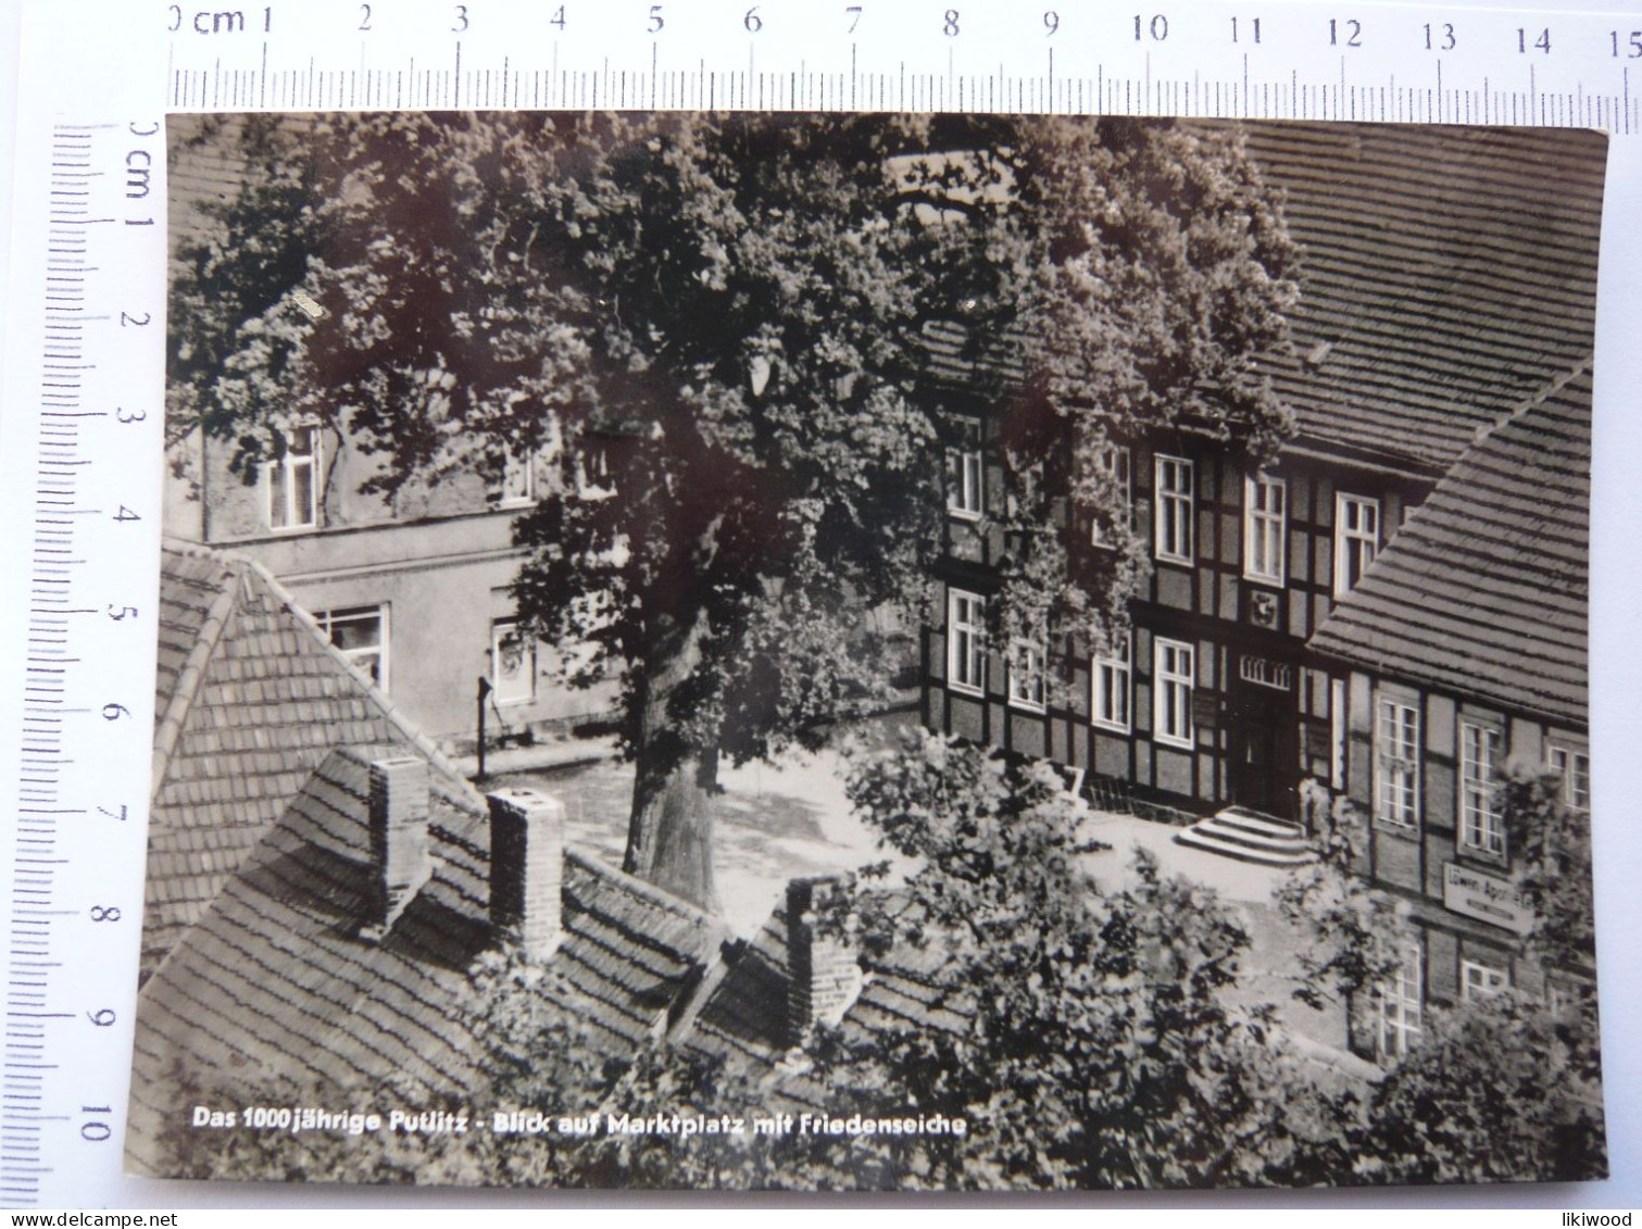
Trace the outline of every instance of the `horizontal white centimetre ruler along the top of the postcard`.
{"label": "horizontal white centimetre ruler along the top of the postcard", "polygon": [[1642,8],[282,0],[171,5],[164,20],[174,110],[957,110],[1642,131]]}

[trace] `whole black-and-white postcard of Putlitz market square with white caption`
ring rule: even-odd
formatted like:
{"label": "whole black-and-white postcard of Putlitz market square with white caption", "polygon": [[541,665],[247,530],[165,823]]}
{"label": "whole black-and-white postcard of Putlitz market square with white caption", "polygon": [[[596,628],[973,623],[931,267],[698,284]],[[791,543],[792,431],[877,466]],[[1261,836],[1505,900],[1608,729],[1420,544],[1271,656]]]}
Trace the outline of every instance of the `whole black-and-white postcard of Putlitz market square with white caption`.
{"label": "whole black-and-white postcard of Putlitz market square with white caption", "polygon": [[167,143],[130,1173],[1608,1175],[1606,136]]}

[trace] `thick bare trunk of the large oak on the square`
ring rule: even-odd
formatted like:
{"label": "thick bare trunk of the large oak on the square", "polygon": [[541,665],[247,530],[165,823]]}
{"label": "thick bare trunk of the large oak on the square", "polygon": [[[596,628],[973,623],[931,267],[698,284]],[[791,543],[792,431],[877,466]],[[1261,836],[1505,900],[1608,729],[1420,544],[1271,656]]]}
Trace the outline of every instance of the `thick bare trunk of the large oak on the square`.
{"label": "thick bare trunk of the large oak on the square", "polygon": [[639,681],[637,773],[622,870],[721,912],[713,883],[718,748],[691,745],[668,712],[675,688],[698,661],[703,630],[698,620],[688,632],[665,637]]}

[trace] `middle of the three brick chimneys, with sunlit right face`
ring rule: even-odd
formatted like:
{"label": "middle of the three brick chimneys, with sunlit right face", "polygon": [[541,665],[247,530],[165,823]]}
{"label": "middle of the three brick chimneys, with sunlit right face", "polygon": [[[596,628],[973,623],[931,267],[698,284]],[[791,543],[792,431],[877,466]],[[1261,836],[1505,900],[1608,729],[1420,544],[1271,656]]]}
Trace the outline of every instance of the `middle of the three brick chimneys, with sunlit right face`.
{"label": "middle of the three brick chimneys, with sunlit right face", "polygon": [[491,804],[491,924],[525,955],[558,950],[565,881],[565,804],[535,789],[498,789]]}

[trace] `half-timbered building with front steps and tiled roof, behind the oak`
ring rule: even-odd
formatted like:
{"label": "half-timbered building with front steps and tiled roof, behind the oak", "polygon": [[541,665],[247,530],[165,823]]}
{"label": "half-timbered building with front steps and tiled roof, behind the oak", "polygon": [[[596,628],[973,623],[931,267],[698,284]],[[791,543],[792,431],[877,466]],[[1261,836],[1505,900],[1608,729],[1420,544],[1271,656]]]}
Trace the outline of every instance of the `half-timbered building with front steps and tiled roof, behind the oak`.
{"label": "half-timbered building with front steps and tiled roof, behind the oak", "polygon": [[[957,427],[924,720],[1136,811],[1292,820],[1304,779],[1345,788],[1346,689],[1312,668],[1319,627],[1478,435],[1589,354],[1606,146],[1366,125],[1248,125],[1246,141],[1302,253],[1292,348],[1266,359],[1297,433],[1258,473],[1187,428],[1113,450],[1151,571],[1126,640],[1053,642],[1064,686],[1046,686],[987,635],[1008,499],[987,441],[1018,371],[933,328],[931,395]],[[1102,566],[1077,509],[1061,530],[1074,568]]]}

